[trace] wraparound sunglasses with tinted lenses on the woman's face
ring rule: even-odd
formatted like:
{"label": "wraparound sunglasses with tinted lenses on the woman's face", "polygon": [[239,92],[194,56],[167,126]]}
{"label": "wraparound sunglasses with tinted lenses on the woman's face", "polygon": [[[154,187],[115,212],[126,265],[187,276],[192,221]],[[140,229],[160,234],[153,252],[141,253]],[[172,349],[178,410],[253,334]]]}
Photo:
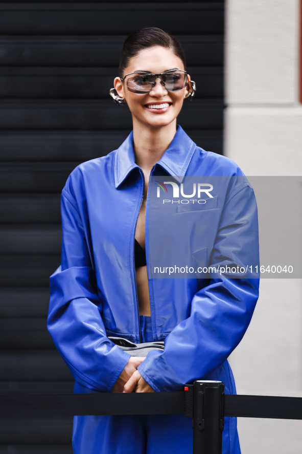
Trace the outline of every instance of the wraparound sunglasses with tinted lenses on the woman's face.
{"label": "wraparound sunglasses with tinted lenses on the woman's face", "polygon": [[[132,77],[128,77],[132,76]],[[127,89],[132,93],[148,93],[156,84],[156,79],[160,78],[160,83],[164,85],[168,92],[176,92],[183,89],[188,84],[188,73],[182,70],[171,70],[165,73],[152,74],[145,71],[136,71],[126,74],[121,80],[126,80]]]}

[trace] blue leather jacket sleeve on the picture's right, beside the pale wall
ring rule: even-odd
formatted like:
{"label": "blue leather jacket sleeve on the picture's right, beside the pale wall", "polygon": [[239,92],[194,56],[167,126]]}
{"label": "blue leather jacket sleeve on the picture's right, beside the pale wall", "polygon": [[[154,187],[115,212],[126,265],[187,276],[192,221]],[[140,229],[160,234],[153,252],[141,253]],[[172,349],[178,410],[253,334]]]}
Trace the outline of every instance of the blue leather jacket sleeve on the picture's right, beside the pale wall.
{"label": "blue leather jacket sleeve on the picture's right, beside the pale wall", "polygon": [[[257,205],[248,186],[225,204],[210,265],[249,262],[259,265]],[[242,339],[258,289],[258,274],[209,280],[193,296],[190,316],[167,336],[164,351],[150,352],[138,371],[155,391],[179,390],[191,380],[206,378]]]}

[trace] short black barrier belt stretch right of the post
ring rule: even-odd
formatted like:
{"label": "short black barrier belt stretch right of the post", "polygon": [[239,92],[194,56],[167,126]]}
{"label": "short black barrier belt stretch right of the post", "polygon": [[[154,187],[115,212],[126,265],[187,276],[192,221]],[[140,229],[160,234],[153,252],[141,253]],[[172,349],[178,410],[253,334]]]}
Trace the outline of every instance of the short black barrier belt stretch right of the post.
{"label": "short black barrier belt stretch right of the post", "polygon": [[224,396],[224,416],[302,419],[302,397]]}

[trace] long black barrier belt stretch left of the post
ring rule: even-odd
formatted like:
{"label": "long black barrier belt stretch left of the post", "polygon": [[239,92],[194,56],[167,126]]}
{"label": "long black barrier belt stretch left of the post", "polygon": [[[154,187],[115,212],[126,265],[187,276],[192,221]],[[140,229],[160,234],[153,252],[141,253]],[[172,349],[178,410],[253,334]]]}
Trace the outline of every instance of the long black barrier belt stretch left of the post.
{"label": "long black barrier belt stretch left of the post", "polygon": [[0,395],[0,416],[184,414],[184,392]]}

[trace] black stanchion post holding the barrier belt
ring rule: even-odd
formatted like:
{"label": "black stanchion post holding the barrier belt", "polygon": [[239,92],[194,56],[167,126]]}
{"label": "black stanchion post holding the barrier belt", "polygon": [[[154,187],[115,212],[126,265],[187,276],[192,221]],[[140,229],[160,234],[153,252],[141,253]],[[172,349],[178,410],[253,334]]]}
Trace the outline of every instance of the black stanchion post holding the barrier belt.
{"label": "black stanchion post holding the barrier belt", "polygon": [[194,381],[193,454],[222,453],[223,391],[221,381]]}

